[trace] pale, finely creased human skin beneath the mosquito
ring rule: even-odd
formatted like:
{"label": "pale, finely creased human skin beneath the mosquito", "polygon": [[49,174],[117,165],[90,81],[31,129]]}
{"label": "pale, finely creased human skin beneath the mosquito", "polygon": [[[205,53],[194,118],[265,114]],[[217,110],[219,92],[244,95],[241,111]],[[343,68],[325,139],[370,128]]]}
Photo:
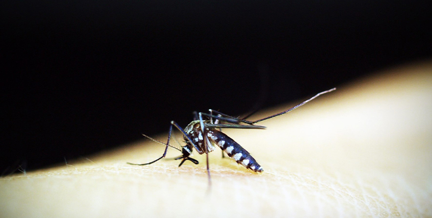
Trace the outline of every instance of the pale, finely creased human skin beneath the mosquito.
{"label": "pale, finely creased human skin beneath the mosquito", "polygon": [[[196,152],[199,165],[178,168],[172,148],[152,165],[126,164],[162,155],[163,145],[147,139],[1,177],[0,217],[432,217],[431,94],[432,62],[414,63],[260,122],[266,130],[224,129],[264,172],[216,148],[210,191],[205,155]],[[152,137],[166,142],[167,134]],[[175,138],[182,144],[178,131]]]}

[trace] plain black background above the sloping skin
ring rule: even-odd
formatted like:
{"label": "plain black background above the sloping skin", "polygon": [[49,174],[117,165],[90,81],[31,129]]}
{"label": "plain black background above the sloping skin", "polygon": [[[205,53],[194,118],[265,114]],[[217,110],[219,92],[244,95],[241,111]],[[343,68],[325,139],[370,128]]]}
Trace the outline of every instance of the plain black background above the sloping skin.
{"label": "plain black background above the sloping skin", "polygon": [[0,172],[430,58],[431,11],[407,0],[2,1]]}

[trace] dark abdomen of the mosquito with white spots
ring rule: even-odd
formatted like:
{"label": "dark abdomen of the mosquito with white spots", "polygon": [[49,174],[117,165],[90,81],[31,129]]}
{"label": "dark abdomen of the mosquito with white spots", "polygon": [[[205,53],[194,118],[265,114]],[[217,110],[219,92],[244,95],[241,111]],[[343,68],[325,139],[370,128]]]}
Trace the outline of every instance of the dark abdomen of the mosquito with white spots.
{"label": "dark abdomen of the mosquito with white spots", "polygon": [[264,171],[263,168],[255,161],[255,159],[241,145],[233,139],[217,130],[207,132],[209,139],[220,147],[228,156],[234,159],[238,164],[255,172]]}

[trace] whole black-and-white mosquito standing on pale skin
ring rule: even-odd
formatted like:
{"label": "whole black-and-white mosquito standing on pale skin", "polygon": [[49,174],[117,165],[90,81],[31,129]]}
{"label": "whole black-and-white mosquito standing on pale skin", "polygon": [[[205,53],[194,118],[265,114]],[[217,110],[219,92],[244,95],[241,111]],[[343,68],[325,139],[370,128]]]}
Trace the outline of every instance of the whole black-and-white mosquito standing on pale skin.
{"label": "whole black-and-white mosquito standing on pale skin", "polygon": [[[140,165],[140,166],[153,164],[165,157],[168,147],[173,147],[182,152],[182,156],[175,158],[175,160],[180,160],[180,159],[182,160],[179,164],[179,167],[182,166],[182,164],[185,163],[185,161],[190,161],[194,164],[198,164],[199,162],[197,160],[189,157],[190,154],[192,153],[192,150],[195,149],[199,154],[204,154],[204,153],[206,154],[207,175],[209,178],[209,184],[211,184],[210,169],[209,169],[209,152],[214,151],[216,149],[216,146],[218,146],[220,149],[222,149],[222,156],[223,156],[223,152],[225,152],[230,158],[234,159],[238,164],[243,165],[246,169],[253,170],[255,172],[262,172],[263,168],[256,162],[256,160],[249,154],[249,152],[247,152],[247,150],[245,150],[241,145],[239,145],[229,136],[221,132],[221,129],[222,128],[265,129],[266,128],[265,126],[255,125],[255,123],[286,114],[300,107],[301,105],[313,100],[314,98],[321,96],[325,93],[332,92],[334,90],[336,90],[336,88],[318,93],[314,97],[311,97],[286,111],[273,114],[269,117],[265,117],[263,119],[259,119],[256,121],[247,121],[244,119],[239,119],[212,109],[209,110],[209,113],[194,112],[194,120],[191,121],[189,125],[186,126],[185,129],[180,127],[180,125],[178,125],[175,121],[171,121],[166,144],[156,139],[153,139],[150,136],[143,134],[143,136],[145,136],[146,138],[153,140],[157,143],[160,143],[162,145],[165,145],[165,151],[163,152],[163,155],[160,158],[145,164],[133,164],[133,163],[128,163],[128,164]],[[181,150],[175,146],[169,145],[169,140],[171,139],[173,126],[175,126],[183,134],[183,139],[185,140],[186,145],[182,146]]]}

